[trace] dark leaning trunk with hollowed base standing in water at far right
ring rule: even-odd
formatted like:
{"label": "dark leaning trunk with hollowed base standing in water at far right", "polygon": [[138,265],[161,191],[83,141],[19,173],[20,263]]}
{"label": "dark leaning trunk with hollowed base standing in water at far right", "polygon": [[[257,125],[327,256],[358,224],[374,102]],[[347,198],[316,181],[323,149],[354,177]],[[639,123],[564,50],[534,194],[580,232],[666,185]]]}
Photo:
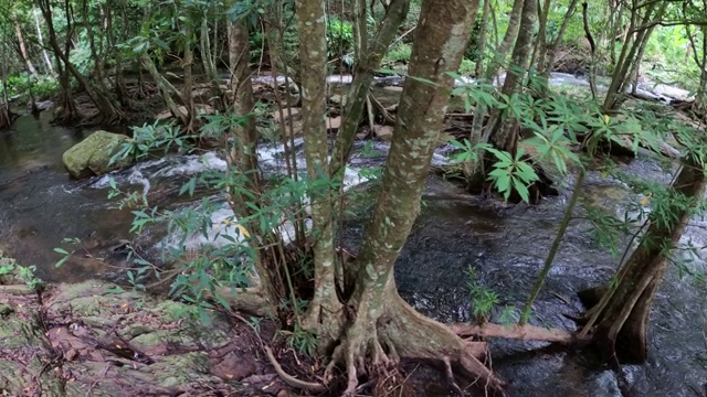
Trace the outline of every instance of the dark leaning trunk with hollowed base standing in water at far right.
{"label": "dark leaning trunk with hollowed base standing in water at far right", "polygon": [[[618,282],[604,291],[599,303],[585,314],[588,323],[580,332],[591,334],[605,358],[646,360],[646,325],[672,248],[679,242],[705,190],[705,171],[699,161],[688,155],[672,186],[673,216],[650,216],[650,226],[636,250],[621,267]],[[689,205],[683,205],[685,200]],[[664,218],[667,218],[665,221]],[[584,297],[598,296],[584,292]],[[589,302],[588,302],[589,303]]]}

